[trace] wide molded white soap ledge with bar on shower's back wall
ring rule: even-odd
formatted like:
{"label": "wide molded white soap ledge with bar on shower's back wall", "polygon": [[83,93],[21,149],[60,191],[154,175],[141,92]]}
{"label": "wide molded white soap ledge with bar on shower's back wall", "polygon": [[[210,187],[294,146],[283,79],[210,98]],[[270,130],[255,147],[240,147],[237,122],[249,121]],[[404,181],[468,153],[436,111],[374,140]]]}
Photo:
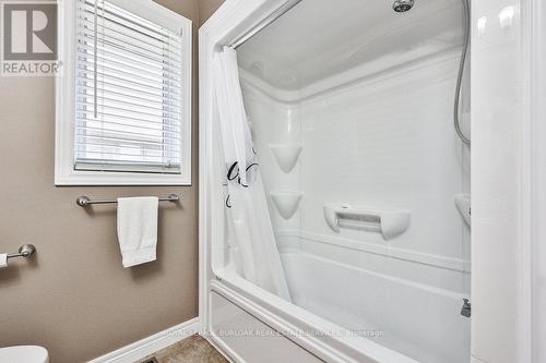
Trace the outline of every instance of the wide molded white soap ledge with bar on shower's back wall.
{"label": "wide molded white soap ledge with bar on shower's back wall", "polygon": [[347,204],[327,204],[323,207],[328,226],[341,232],[342,228],[381,233],[390,240],[410,227],[410,210],[353,207]]}

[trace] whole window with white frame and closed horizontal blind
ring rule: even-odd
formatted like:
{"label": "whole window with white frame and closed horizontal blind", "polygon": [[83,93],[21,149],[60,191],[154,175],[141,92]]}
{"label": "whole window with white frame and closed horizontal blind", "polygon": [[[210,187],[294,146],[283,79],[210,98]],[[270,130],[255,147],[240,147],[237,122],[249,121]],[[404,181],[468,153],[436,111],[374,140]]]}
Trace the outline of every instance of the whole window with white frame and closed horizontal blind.
{"label": "whole window with white frame and closed horizontal blind", "polygon": [[56,184],[190,184],[191,22],[151,0],[64,3]]}

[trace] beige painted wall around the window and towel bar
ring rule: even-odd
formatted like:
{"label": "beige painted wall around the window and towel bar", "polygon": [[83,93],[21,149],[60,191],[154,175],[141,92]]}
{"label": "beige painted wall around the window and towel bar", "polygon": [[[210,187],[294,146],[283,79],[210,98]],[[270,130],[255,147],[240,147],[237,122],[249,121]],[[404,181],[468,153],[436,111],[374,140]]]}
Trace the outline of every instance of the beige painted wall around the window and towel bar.
{"label": "beige painted wall around the window and towel bar", "polygon": [[[197,29],[198,0],[158,2]],[[32,263],[0,269],[0,347],[40,344],[52,363],[82,362],[197,316],[197,97],[193,107],[192,186],[56,187],[54,78],[0,77],[0,252],[23,243],[38,250]],[[170,192],[182,203],[161,208],[157,261],[128,269],[115,207],[87,213],[74,203],[82,194]]]}

